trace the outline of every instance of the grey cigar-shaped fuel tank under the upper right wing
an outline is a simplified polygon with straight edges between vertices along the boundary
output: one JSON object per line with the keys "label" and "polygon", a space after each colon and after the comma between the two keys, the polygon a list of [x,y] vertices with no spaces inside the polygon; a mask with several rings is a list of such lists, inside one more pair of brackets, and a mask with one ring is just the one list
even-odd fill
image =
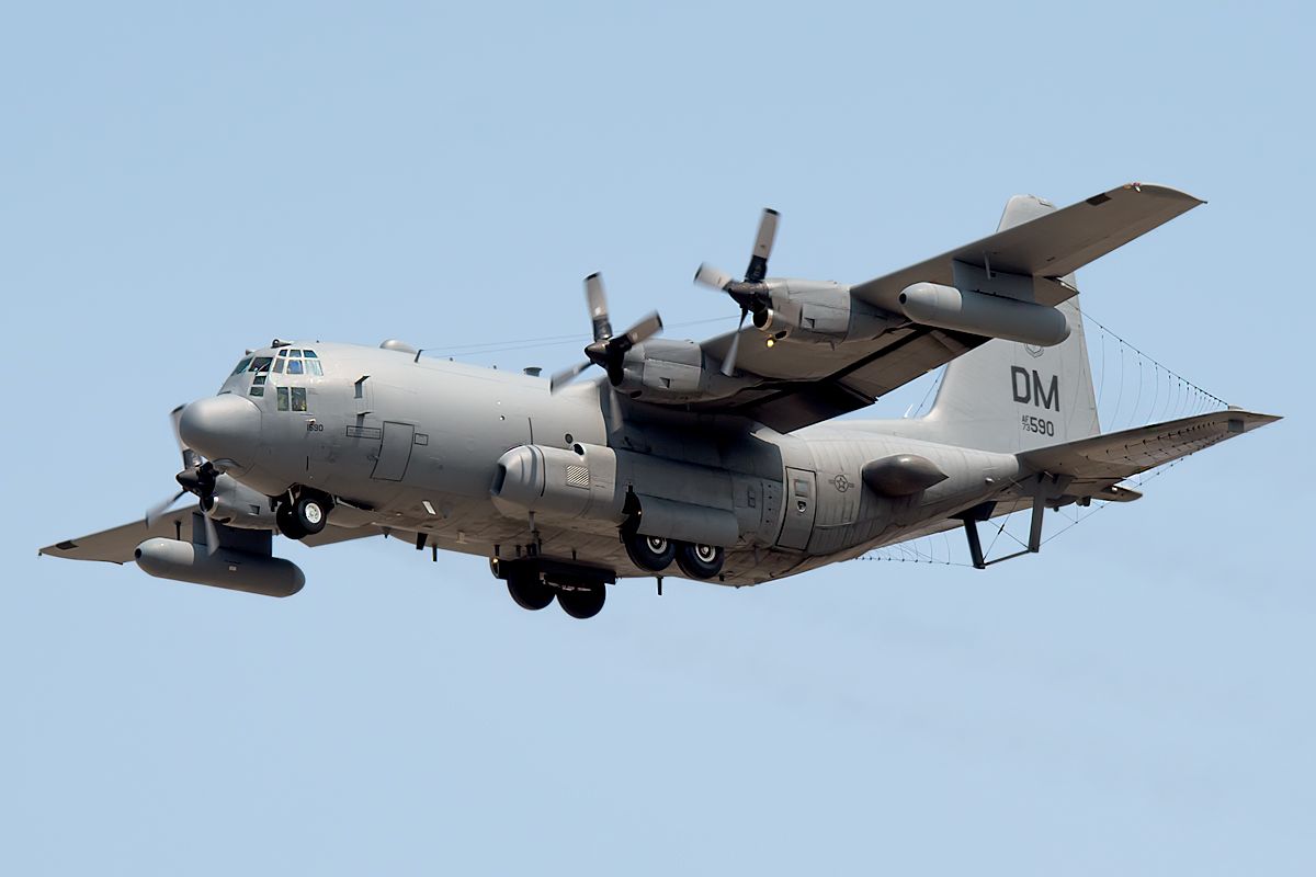
{"label": "grey cigar-shaped fuel tank under the upper right wing", "polygon": [[1054,347],[1069,338],[1069,321],[1055,308],[965,292],[940,283],[916,283],[900,293],[900,309],[925,326]]}

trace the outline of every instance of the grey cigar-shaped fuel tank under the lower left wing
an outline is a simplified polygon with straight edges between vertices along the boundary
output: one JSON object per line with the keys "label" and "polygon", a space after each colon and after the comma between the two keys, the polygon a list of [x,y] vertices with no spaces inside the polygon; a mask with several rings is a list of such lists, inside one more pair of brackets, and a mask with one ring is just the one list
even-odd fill
{"label": "grey cigar-shaped fuel tank under the lower left wing", "polygon": [[137,546],[134,556],[141,571],[157,579],[265,597],[291,597],[307,584],[301,568],[290,560],[222,547],[209,555],[205,546],[179,539],[147,539]]}

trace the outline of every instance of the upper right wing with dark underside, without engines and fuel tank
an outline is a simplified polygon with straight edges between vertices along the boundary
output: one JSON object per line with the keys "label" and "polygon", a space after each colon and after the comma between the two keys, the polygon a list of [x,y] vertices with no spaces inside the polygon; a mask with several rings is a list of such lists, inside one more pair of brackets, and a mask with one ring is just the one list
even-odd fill
{"label": "upper right wing with dark underside, without engines and fuel tank", "polygon": [[[1036,300],[1055,305],[1075,292],[1061,277],[1199,204],[1203,201],[1177,189],[1130,183],[861,283],[850,293],[899,313],[900,291],[920,281],[953,285],[954,264],[959,262],[1034,277]],[[769,348],[755,329],[741,331],[745,337],[737,368],[767,380],[729,398],[695,402],[691,409],[742,414],[783,433],[871,405],[879,396],[988,341],[909,323],[873,341],[826,344],[787,337]],[[701,346],[720,360],[734,335],[728,333]]]}

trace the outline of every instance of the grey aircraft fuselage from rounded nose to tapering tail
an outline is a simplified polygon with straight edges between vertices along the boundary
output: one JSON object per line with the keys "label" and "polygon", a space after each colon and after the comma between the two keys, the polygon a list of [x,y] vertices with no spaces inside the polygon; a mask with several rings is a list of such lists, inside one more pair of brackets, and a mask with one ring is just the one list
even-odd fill
{"label": "grey aircraft fuselage from rounded nose to tapering tail", "polygon": [[[745,418],[621,398],[625,417],[613,425],[604,380],[550,393],[549,381],[532,375],[334,343],[290,343],[249,359],[278,362],[283,351],[287,363],[290,351],[303,350],[313,351],[321,373],[311,373],[309,360],[296,375],[249,366],[220,396],[184,410],[188,443],[257,497],[234,509],[230,526],[268,529],[259,497],[308,490],[333,498],[330,526],[378,526],[418,546],[646,576],[654,573],[634,565],[619,540],[642,505],[642,526],[665,536],[725,534],[716,580],[744,585],[944,526],[1009,493],[1019,475],[1011,454],[898,438],[900,422],[786,435]],[[208,418],[209,406],[217,413]],[[879,475],[866,480],[874,460],[911,455],[940,480],[904,496],[898,486],[874,489],[884,484]],[[554,484],[555,462],[579,464],[578,472]],[[508,483],[516,477],[540,479],[526,483],[537,493]],[[592,490],[592,501],[582,490]]]}

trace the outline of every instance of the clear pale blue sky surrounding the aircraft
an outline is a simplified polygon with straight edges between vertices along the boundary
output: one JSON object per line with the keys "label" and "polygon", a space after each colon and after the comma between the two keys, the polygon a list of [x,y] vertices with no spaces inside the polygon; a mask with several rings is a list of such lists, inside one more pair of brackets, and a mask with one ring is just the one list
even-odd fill
{"label": "clear pale blue sky surrounding the aircraft", "polygon": [[[7,5],[0,872],[1316,872],[1316,21],[1071,5]],[[1084,305],[1287,419],[1038,557],[584,623],[397,542],[280,543],[286,601],[36,557],[275,335],[559,368],[596,270],[725,329],[690,276],[765,205],[774,273],[859,281],[1129,180],[1209,204]]]}

